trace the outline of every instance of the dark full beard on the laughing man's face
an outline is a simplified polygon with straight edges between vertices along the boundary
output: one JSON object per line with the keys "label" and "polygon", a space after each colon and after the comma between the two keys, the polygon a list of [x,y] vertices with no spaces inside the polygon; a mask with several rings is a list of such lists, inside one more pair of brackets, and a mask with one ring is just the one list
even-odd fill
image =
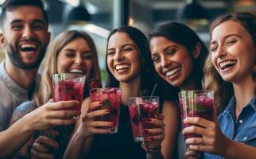
{"label": "dark full beard on the laughing man's face", "polygon": [[25,70],[32,70],[35,68],[39,68],[39,65],[41,64],[41,61],[44,59],[45,57],[45,52],[46,52],[46,45],[42,45],[42,48],[39,50],[39,54],[37,57],[37,60],[32,63],[32,64],[25,64],[22,59],[21,56],[19,54],[19,49],[18,46],[13,46],[10,43],[7,43],[7,54],[10,58],[10,61],[12,64],[14,64],[14,66],[16,66],[17,68],[21,68],[21,69],[25,69]]}

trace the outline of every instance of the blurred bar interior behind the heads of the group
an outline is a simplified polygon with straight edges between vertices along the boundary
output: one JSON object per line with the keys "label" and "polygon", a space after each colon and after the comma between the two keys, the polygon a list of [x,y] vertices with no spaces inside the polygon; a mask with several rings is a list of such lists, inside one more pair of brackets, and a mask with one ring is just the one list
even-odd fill
{"label": "blurred bar interior behind the heads of the group", "polygon": [[[2,4],[4,0],[0,0]],[[99,52],[103,80],[107,36],[120,25],[133,25],[148,34],[157,25],[180,21],[208,45],[208,28],[221,14],[246,11],[256,14],[256,0],[45,0],[52,39],[68,29],[91,35]],[[5,56],[0,49],[0,61]]]}

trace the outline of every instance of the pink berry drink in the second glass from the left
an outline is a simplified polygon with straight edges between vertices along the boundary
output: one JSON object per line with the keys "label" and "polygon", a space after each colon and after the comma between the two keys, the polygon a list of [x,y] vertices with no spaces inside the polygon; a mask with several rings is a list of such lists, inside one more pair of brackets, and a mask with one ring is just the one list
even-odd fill
{"label": "pink berry drink in the second glass from the left", "polygon": [[109,114],[105,114],[96,118],[99,121],[113,122],[113,133],[118,132],[118,122],[121,104],[120,88],[95,88],[90,90],[91,102],[101,101],[102,107],[97,110],[108,109]]}

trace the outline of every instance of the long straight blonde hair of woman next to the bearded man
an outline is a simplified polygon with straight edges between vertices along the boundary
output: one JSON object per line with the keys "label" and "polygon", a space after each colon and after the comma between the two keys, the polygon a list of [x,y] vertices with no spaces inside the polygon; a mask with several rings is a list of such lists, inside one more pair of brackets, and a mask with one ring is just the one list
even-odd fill
{"label": "long straight blonde hair of woman next to the bearded man", "polygon": [[56,74],[57,72],[57,57],[64,48],[64,46],[68,45],[71,41],[83,38],[87,41],[87,44],[91,48],[92,52],[92,61],[93,67],[90,73],[90,78],[94,78],[100,80],[100,71],[99,71],[99,62],[98,62],[98,53],[95,48],[95,43],[92,41],[91,37],[82,31],[69,30],[64,33],[60,33],[52,44],[48,47],[48,50],[45,55],[45,62],[42,65],[42,73],[41,73],[41,83],[39,85],[38,91],[34,96],[35,103],[38,107],[47,103],[49,99],[52,98],[52,74]]}

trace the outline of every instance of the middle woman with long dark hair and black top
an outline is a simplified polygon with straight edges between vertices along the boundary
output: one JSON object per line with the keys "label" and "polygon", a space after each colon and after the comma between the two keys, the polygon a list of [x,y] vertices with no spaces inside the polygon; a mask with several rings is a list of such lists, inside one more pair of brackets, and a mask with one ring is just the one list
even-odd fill
{"label": "middle woman with long dark hair and black top", "polygon": [[[88,113],[87,119],[80,126],[80,132],[76,133],[66,152],[66,157],[80,157],[81,151],[87,154],[88,158],[161,158],[161,142],[165,138],[163,116],[157,115],[149,118],[147,122],[159,128],[147,129],[149,138],[146,138],[143,148],[142,143],[133,141],[133,134],[130,126],[130,116],[127,107],[127,100],[135,96],[150,96],[154,85],[157,83],[156,72],[153,69],[148,42],[145,35],[138,29],[131,26],[122,26],[114,29],[107,40],[107,73],[109,80],[107,87],[120,87],[122,89],[122,103],[119,118],[118,133],[110,134],[111,130],[103,129],[102,126],[109,126],[109,123],[98,122],[96,126],[93,118],[100,114],[106,114],[103,110]],[[160,107],[165,105],[174,107],[171,101],[164,101],[161,95],[161,86],[157,86],[153,93],[160,96]],[[100,103],[91,103],[95,107]],[[89,109],[90,109],[89,107]],[[169,114],[172,115],[172,114]],[[82,129],[83,128],[83,129]],[[88,133],[88,131],[91,132]],[[92,138],[92,144],[87,144]],[[168,134],[166,134],[168,135]],[[80,142],[83,138],[83,142]],[[85,144],[85,145],[84,145]],[[79,145],[79,146],[77,146]],[[81,148],[81,145],[83,148]],[[72,149],[73,147],[73,149]],[[77,147],[80,147],[78,151]],[[85,155],[86,156],[86,155]]]}

